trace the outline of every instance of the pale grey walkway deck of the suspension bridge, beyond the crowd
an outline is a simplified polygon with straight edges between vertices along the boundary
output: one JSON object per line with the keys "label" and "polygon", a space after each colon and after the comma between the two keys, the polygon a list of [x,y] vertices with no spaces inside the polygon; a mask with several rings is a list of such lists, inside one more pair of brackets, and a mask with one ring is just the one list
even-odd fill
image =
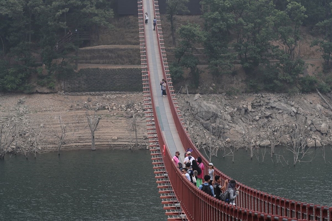
{"label": "pale grey walkway deck of the suspension bridge, beyond the crowd", "polygon": [[[182,145],[179,134],[175,127],[175,122],[172,117],[170,110],[170,105],[166,97],[162,96],[160,81],[163,77],[163,66],[160,60],[159,47],[157,40],[157,31],[153,31],[153,15],[154,7],[152,0],[143,0],[144,11],[147,12],[149,20],[145,24],[145,40],[146,40],[146,50],[148,54],[148,65],[150,68],[150,80],[156,112],[159,121],[161,122],[161,128],[163,135],[166,139],[167,147],[169,148],[172,154],[175,154],[176,151],[181,153],[180,161],[184,160],[185,148]],[[169,96],[169,95],[167,95]]]}

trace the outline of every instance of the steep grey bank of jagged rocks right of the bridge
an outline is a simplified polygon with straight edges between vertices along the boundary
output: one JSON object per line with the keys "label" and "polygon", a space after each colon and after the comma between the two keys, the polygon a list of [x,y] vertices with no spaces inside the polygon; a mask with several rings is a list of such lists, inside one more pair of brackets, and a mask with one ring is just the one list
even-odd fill
{"label": "steep grey bank of jagged rocks right of the bridge", "polygon": [[[328,99],[328,97],[327,97]],[[332,144],[332,111],[317,95],[180,95],[188,131],[198,147]]]}

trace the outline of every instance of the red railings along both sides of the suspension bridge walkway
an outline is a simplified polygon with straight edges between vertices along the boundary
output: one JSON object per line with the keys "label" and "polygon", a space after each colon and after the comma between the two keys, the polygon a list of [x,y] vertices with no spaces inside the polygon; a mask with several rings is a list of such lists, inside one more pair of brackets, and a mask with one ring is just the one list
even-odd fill
{"label": "red railings along both sides of the suspension bridge walkway", "polygon": [[[173,84],[169,74],[168,62],[166,58],[165,44],[159,14],[158,0],[154,0],[154,15],[157,19],[157,40],[159,42],[160,60],[163,66],[163,75],[167,80],[167,96],[169,105],[171,106],[172,116],[175,121],[177,132],[186,148],[193,149],[193,157],[201,157],[204,164],[207,165],[207,159],[196,149],[194,143],[190,140],[184,122],[181,118],[179,106],[177,104]],[[151,84],[151,82],[150,82]],[[149,85],[150,85],[149,84]],[[150,93],[152,93],[152,87]],[[153,105],[153,115],[157,116],[153,96],[151,96]],[[159,145],[166,145],[165,138],[161,132],[158,118],[155,118]],[[167,146],[167,145],[166,145]],[[220,220],[319,220],[332,221],[332,207],[313,205],[305,202],[293,201],[268,193],[258,191],[240,182],[240,195],[236,200],[237,206],[232,206],[208,196],[200,191],[192,183],[184,179],[180,171],[171,161],[171,153],[166,148],[163,156],[166,170],[170,178],[173,190],[177,199],[181,203],[183,211],[187,214],[190,221],[220,221]],[[207,174],[207,167],[204,171]],[[216,175],[221,176],[223,182],[229,177],[215,169]]]}

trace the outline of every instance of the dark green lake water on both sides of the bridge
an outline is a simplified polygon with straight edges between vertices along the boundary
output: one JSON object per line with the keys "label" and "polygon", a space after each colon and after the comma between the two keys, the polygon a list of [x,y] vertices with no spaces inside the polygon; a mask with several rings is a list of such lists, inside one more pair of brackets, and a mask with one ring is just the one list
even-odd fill
{"label": "dark green lake water on both sides of the bridge", "polygon": [[[332,150],[326,163],[318,149],[311,163],[264,163],[238,150],[212,162],[231,178],[255,189],[332,206]],[[261,159],[260,159],[261,160]],[[143,221],[165,220],[146,150],[80,150],[33,156],[6,155],[0,161],[0,221]]]}

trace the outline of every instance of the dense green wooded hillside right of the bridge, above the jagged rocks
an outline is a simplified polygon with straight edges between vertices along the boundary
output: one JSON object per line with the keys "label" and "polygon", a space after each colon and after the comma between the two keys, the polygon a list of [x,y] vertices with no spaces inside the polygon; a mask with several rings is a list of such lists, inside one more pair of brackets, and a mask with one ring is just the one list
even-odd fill
{"label": "dense green wooded hillside right of the bridge, above the jagged rocks", "polygon": [[[204,47],[208,74],[216,79],[236,75],[234,66],[239,63],[249,91],[331,90],[331,0],[202,0],[201,4],[203,25],[187,23],[177,30],[173,80],[183,78],[185,67],[191,83],[199,86],[201,70],[194,54],[197,47]],[[324,60],[322,71],[314,76],[305,74],[307,64],[300,53],[304,27]]]}

